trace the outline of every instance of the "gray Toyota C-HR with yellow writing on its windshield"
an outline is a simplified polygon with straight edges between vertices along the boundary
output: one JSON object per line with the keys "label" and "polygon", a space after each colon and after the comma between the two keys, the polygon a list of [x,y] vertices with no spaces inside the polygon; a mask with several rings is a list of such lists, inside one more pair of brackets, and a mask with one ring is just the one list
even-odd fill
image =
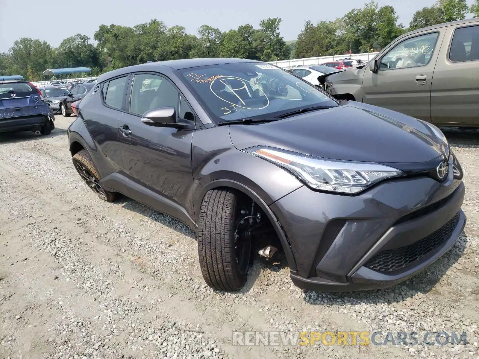
{"label": "gray Toyota C-HR with yellow writing on its windshield", "polygon": [[264,62],[185,59],[101,75],[68,128],[73,164],[196,231],[203,277],[246,281],[258,238],[293,282],[388,287],[441,257],[466,216],[462,169],[431,123],[336,101]]}

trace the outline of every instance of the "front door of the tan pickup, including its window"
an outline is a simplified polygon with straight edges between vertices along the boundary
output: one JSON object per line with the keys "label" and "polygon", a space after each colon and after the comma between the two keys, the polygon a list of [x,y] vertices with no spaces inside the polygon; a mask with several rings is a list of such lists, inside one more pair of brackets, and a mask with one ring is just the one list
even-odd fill
{"label": "front door of the tan pickup, including its window", "polygon": [[377,59],[378,71],[365,69],[363,102],[431,121],[434,66],[442,41],[440,30],[400,41]]}

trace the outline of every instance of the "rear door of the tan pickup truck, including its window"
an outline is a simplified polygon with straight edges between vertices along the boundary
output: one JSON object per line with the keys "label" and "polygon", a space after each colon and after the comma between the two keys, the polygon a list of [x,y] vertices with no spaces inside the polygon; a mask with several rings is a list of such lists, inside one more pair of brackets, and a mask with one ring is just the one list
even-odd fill
{"label": "rear door of the tan pickup truck, including its window", "polygon": [[435,124],[479,124],[479,22],[447,28],[434,69],[431,119]]}

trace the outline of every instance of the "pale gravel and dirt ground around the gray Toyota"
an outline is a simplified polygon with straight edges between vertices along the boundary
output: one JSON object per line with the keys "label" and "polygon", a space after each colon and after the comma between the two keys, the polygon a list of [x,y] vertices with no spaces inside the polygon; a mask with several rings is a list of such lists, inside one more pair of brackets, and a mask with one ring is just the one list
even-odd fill
{"label": "pale gravel and dirt ground around the gray Toyota", "polygon": [[[478,131],[446,132],[468,223],[424,272],[328,294],[293,286],[284,260],[255,260],[233,294],[205,285],[183,224],[97,199],[71,164],[74,117],[56,118],[49,136],[0,134],[0,358],[479,358]],[[236,346],[235,330],[465,331],[467,343]]]}

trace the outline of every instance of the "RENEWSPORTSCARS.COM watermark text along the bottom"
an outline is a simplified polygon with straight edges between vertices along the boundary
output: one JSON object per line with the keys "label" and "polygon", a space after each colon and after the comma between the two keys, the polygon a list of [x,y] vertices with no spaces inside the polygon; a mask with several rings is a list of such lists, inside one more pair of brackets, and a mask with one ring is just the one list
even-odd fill
{"label": "RENEWSPORTSCARS.COM watermark text along the bottom", "polygon": [[386,346],[386,345],[466,345],[466,332],[368,332],[368,331],[302,331],[302,332],[233,332],[234,346]]}

